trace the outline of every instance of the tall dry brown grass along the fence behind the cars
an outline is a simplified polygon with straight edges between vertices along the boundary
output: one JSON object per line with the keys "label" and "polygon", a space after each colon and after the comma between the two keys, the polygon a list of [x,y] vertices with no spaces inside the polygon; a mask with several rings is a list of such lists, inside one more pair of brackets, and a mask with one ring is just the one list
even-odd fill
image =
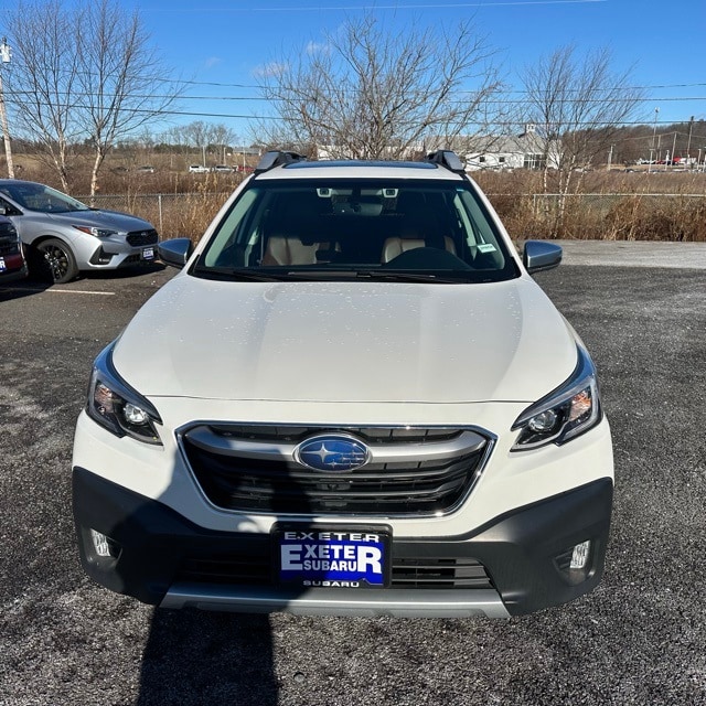
{"label": "tall dry brown grass along the fence behind the cars", "polygon": [[[2,170],[0,160],[0,170]],[[190,174],[193,156],[152,154],[126,160],[114,157],[100,179],[100,194],[120,194],[116,205],[158,225],[162,237],[197,240],[226,197],[242,181],[237,173]],[[213,161],[213,160],[211,160]],[[153,164],[154,173],[137,170]],[[18,156],[19,179],[60,188],[56,178],[36,160]],[[72,179],[74,195],[86,194],[88,162]],[[574,175],[564,202],[544,199],[539,172],[475,172],[473,179],[489,194],[515,239],[574,238],[606,240],[706,242],[706,174],[670,172],[663,167],[641,171],[596,171]],[[549,184],[549,191],[556,184]],[[161,208],[157,194],[162,194]],[[152,196],[150,196],[152,195]]]}

